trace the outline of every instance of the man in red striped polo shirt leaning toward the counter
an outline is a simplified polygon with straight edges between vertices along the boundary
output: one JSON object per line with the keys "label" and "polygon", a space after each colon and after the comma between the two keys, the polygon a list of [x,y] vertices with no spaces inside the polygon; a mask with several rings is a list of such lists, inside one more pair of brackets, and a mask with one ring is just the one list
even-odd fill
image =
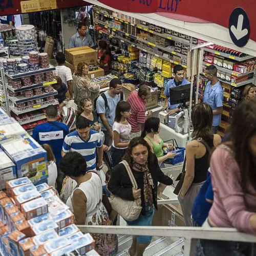
{"label": "man in red striped polo shirt leaning toward the counter", "polygon": [[144,122],[147,118],[152,117],[152,111],[148,111],[147,116],[146,113],[146,101],[151,97],[150,88],[146,86],[146,84],[141,84],[138,92],[133,91],[129,95],[127,102],[131,105],[131,116],[127,119],[127,121],[132,126],[131,139],[135,137],[139,137],[141,135],[141,131],[144,129]]}

